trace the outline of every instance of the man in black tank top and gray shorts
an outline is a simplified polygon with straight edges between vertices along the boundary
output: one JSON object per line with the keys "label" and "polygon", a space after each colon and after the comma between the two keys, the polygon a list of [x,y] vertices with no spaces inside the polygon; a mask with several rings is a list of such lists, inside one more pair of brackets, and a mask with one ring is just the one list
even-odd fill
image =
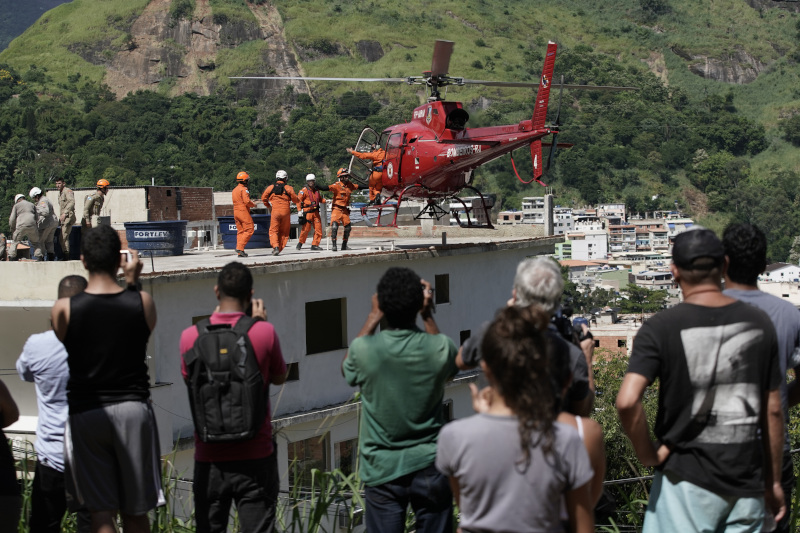
{"label": "man in black tank top and gray shorts", "polygon": [[[51,315],[70,369],[65,471],[72,496],[92,513],[93,531],[114,531],[119,512],[126,533],[149,532],[147,512],[164,500],[145,362],[156,309],[138,290],[142,263],[132,254],[128,261],[120,253],[110,226],[88,232],[81,242],[86,291],[58,300]],[[117,283],[120,266],[127,289]]]}

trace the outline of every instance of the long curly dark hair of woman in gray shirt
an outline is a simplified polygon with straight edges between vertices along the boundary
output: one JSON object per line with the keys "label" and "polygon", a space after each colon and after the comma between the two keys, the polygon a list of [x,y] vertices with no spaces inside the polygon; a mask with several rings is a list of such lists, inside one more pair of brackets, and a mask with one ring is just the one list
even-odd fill
{"label": "long curly dark hair of woman in gray shirt", "polygon": [[[501,309],[483,337],[483,360],[494,377],[492,385],[519,420],[524,468],[531,448],[553,448],[556,398],[548,372],[545,330],[549,316],[536,308]],[[534,439],[533,433],[537,436]]]}

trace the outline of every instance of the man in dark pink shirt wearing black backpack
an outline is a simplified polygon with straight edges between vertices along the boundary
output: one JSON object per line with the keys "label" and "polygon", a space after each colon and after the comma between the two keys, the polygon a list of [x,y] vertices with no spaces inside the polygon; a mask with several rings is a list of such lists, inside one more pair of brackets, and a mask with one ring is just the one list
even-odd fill
{"label": "man in dark pink shirt wearing black backpack", "polygon": [[[232,502],[242,532],[271,532],[279,479],[268,387],[286,381],[286,363],[263,300],[252,298],[253,276],[246,266],[225,265],[214,292],[217,309],[184,330],[180,341],[195,425],[197,533],[227,531]],[[249,317],[245,310],[251,303]],[[223,403],[231,406],[225,413]]]}

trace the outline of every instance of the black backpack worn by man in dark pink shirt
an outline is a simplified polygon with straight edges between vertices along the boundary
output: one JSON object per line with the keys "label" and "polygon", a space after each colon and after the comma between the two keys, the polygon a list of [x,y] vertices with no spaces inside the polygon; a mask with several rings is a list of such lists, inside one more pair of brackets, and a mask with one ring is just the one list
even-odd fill
{"label": "black backpack worn by man in dark pink shirt", "polygon": [[252,439],[264,425],[269,389],[247,336],[255,322],[244,316],[230,327],[201,320],[194,346],[183,355],[192,420],[203,442]]}

